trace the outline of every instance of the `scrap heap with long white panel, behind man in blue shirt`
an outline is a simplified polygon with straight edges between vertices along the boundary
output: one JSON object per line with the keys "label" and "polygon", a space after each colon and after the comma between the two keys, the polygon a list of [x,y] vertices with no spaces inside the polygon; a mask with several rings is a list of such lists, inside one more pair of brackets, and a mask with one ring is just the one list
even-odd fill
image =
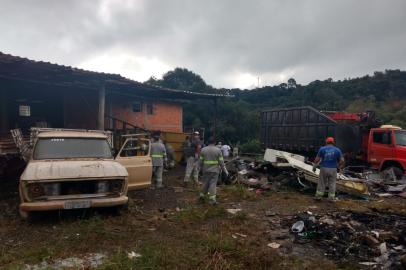
{"label": "scrap heap with long white panel, behind man in blue shirt", "polygon": [[[226,163],[230,172],[228,182],[239,182],[251,188],[269,189],[274,181],[285,181],[292,178],[303,187],[315,185],[318,182],[319,169],[312,171],[312,164],[306,162],[304,156],[289,152],[267,149],[262,161],[252,158],[235,158]],[[225,180],[225,182],[227,182]],[[285,181],[291,183],[291,181]],[[337,190],[366,197],[376,196],[406,197],[406,177],[398,179],[394,172],[388,170],[380,174],[372,171],[354,173],[344,170],[337,174]]]}

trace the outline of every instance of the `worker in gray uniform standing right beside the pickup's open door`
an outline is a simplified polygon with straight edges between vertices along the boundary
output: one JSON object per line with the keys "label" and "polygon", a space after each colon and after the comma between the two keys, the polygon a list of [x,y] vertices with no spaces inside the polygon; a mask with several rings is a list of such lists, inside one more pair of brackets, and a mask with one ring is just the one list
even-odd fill
{"label": "worker in gray uniform standing right beside the pickup's open door", "polygon": [[151,159],[152,159],[152,174],[153,183],[157,188],[163,187],[162,185],[162,173],[164,170],[164,163],[166,163],[166,149],[165,145],[159,139],[160,134],[153,136],[153,142],[151,144]]}

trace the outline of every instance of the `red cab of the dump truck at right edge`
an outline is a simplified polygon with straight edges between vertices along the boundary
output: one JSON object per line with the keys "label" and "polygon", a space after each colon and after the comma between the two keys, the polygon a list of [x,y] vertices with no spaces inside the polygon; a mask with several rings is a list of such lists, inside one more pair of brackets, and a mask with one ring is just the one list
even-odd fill
{"label": "red cab of the dump truck at right edge", "polygon": [[373,169],[393,168],[398,177],[405,173],[406,130],[390,125],[372,128],[367,148],[367,159]]}

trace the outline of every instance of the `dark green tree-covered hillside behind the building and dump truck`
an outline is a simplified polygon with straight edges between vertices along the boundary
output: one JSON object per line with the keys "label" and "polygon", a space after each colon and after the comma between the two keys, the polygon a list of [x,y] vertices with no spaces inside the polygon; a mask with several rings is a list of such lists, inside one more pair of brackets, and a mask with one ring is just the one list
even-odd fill
{"label": "dark green tree-covered hillside behind the building and dump truck", "polygon": [[[278,86],[253,90],[215,89],[197,74],[176,68],[162,80],[151,78],[149,84],[201,93],[227,93],[234,98],[219,100],[217,138],[229,144],[242,143],[247,152],[260,150],[260,112],[265,108],[313,106],[319,110],[362,112],[374,110],[384,123],[406,128],[406,71],[385,70],[373,76],[342,81],[316,80],[297,84],[294,78]],[[184,126],[204,127],[212,135],[214,103],[199,100],[184,105]],[[245,150],[244,150],[245,152]]]}

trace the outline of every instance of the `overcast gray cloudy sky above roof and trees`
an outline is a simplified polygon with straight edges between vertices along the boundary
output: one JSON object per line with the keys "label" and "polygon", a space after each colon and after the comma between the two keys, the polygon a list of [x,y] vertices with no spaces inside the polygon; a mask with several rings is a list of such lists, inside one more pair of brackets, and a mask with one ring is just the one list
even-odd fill
{"label": "overcast gray cloudy sky above roof and trees", "polygon": [[0,51],[215,87],[406,70],[404,0],[0,0]]}

